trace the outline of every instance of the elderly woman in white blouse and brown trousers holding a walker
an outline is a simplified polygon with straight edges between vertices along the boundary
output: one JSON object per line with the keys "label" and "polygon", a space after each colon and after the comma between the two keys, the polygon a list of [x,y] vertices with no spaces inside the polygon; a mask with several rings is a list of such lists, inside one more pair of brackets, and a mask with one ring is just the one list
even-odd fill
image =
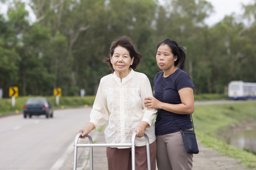
{"label": "elderly woman in white blouse and brown trousers holding a walker", "polygon": [[[133,41],[122,36],[112,42],[110,55],[105,58],[112,74],[100,81],[90,122],[82,131],[81,138],[93,129],[108,122],[105,129],[106,143],[131,143],[137,131],[135,168],[147,169],[146,142],[150,142],[151,168],[156,167],[156,142],[154,117],[156,109],[144,107],[144,98],[152,97],[152,89],[146,75],[134,71],[142,55],[135,50]],[[108,169],[131,169],[131,148],[107,147]]]}

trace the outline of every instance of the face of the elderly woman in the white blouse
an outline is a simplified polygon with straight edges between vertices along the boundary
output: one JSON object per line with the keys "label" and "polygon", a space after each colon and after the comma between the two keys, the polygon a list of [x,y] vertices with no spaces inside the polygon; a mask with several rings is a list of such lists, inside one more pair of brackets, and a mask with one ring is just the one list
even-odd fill
{"label": "face of the elderly woman in the white blouse", "polygon": [[110,61],[115,71],[126,73],[129,71],[129,67],[133,64],[133,58],[131,58],[129,51],[122,46],[117,46],[114,49],[113,56],[110,56]]}

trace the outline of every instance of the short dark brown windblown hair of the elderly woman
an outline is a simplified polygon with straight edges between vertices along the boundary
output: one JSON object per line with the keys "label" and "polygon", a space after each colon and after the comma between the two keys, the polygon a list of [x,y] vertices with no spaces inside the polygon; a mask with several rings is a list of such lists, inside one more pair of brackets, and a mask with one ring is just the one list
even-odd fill
{"label": "short dark brown windblown hair of the elderly woman", "polygon": [[135,70],[139,66],[139,63],[141,62],[142,54],[137,52],[137,49],[135,48],[135,45],[133,44],[133,40],[131,40],[130,37],[127,36],[121,36],[117,40],[113,41],[110,46],[110,52],[109,56],[104,59],[104,62],[108,63],[109,69],[114,73],[114,68],[112,63],[110,62],[110,56],[113,57],[114,50],[117,48],[117,46],[122,46],[123,48],[127,49],[127,51],[130,54],[130,57],[133,58],[133,65],[130,66],[131,69]]}

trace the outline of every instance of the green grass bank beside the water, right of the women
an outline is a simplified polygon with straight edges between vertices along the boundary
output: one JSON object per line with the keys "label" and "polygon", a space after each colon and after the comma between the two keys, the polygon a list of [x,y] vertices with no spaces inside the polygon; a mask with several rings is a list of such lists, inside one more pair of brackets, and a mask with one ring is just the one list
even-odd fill
{"label": "green grass bank beside the water, right of the women", "polygon": [[256,121],[256,101],[233,104],[196,105],[193,121],[197,138],[207,147],[214,148],[222,155],[240,159],[247,168],[256,169],[256,155],[226,144],[217,138],[220,131],[228,133],[226,127],[242,121]]}

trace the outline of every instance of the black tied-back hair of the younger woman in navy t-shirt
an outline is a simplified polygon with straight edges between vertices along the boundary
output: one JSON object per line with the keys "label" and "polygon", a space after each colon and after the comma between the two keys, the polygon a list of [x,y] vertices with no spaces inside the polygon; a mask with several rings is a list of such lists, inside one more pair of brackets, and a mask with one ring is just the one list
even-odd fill
{"label": "black tied-back hair of the younger woman in navy t-shirt", "polygon": [[[177,56],[177,60],[175,61],[174,65],[179,65],[179,68],[183,70],[186,59],[185,49],[182,46],[179,46],[176,41],[170,39],[164,39],[159,42],[158,48],[160,45],[164,44],[168,45],[171,48],[171,52],[172,54],[174,54],[174,56]],[[158,48],[156,50],[158,50]]]}

